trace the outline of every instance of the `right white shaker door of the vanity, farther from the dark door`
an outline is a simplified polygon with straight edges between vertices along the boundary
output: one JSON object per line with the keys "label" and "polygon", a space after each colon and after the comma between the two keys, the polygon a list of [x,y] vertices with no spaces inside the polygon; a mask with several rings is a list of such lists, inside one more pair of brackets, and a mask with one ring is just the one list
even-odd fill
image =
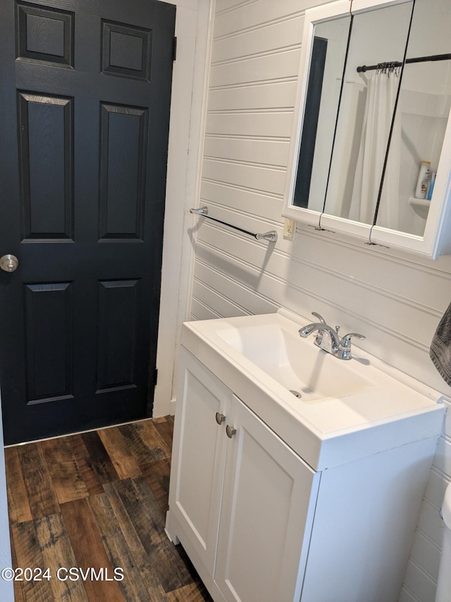
{"label": "right white shaker door of the vanity, farther from the dark door", "polygon": [[240,399],[228,426],[215,581],[226,600],[299,600],[319,474]]}

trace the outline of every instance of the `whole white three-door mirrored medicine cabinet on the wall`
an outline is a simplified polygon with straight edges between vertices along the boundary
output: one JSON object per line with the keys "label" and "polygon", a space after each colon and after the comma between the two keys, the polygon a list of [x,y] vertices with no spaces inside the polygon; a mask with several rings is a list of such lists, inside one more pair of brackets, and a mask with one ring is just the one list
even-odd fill
{"label": "whole white three-door mirrored medicine cabinet on the wall", "polygon": [[285,217],[434,259],[451,253],[450,30],[449,0],[306,11]]}

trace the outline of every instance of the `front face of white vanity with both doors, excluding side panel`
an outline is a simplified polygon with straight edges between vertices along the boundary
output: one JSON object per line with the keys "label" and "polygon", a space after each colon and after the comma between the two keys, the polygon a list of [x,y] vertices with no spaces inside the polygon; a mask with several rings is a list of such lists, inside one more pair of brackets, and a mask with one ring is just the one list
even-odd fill
{"label": "front face of white vanity with both doors, excluding side panel", "polygon": [[299,600],[319,474],[183,348],[180,381],[169,536],[215,600]]}

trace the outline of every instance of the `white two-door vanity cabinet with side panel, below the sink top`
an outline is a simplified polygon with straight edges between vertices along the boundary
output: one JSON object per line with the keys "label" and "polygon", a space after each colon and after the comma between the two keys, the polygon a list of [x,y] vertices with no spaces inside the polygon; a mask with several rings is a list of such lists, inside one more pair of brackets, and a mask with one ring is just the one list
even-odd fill
{"label": "white two-door vanity cabinet with side panel, below the sink top", "polygon": [[397,602],[436,437],[314,470],[230,386],[181,348],[166,532],[214,600]]}

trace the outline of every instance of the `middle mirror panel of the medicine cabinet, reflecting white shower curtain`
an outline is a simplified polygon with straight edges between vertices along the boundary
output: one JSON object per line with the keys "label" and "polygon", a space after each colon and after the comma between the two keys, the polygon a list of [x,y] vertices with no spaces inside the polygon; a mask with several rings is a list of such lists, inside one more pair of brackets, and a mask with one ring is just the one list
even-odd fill
{"label": "middle mirror panel of the medicine cabinet, reflecting white shower curtain", "polygon": [[413,2],[353,15],[324,212],[373,224]]}

